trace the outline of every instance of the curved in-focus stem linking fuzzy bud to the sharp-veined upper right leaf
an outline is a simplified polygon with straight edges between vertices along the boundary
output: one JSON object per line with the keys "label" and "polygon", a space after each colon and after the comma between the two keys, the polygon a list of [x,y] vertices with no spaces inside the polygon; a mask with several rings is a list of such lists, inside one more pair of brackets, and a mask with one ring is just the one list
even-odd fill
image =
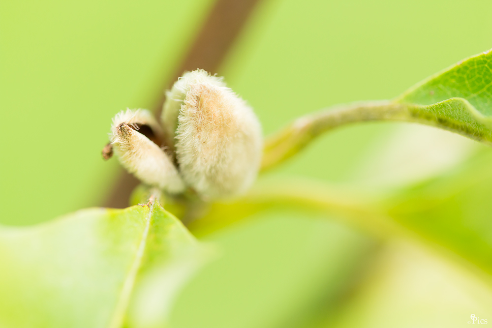
{"label": "curved in-focus stem linking fuzzy bud to the sharp-veined upper right leaf", "polygon": [[362,121],[406,121],[439,127],[492,145],[488,119],[463,98],[418,105],[395,101],[360,102],[309,114],[265,141],[261,170],[268,170],[305,148],[320,134],[338,126]]}

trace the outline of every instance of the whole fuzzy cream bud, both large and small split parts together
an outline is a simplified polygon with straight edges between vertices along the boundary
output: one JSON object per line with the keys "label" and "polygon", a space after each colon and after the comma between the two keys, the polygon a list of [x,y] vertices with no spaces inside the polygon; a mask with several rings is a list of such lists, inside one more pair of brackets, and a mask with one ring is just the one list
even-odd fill
{"label": "whole fuzzy cream bud, both large and small split parts together", "polygon": [[114,149],[130,173],[169,193],[191,188],[212,200],[246,191],[263,150],[252,109],[222,78],[204,70],[186,72],[166,94],[164,130],[149,111],[121,112],[113,119],[104,158]]}

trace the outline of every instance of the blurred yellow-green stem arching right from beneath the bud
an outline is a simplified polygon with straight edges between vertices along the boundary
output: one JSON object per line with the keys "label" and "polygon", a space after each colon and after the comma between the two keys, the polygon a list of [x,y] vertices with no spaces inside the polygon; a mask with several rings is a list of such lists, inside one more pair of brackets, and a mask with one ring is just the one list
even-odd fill
{"label": "blurred yellow-green stem arching right from beneath the bud", "polygon": [[382,199],[384,195],[360,194],[303,179],[283,178],[256,185],[234,202],[210,204],[207,212],[187,227],[193,235],[204,236],[266,209],[298,208],[328,214],[376,239],[406,234],[379,208]]}

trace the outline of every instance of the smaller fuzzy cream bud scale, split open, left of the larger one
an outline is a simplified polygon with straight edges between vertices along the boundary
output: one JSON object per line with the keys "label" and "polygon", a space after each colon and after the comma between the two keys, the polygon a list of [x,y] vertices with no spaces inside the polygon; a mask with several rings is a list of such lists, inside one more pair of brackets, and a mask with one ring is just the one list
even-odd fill
{"label": "smaller fuzzy cream bud scale, split open, left of the larger one", "polygon": [[126,110],[116,115],[111,126],[111,143],[123,167],[138,179],[170,193],[184,191],[184,183],[169,156],[154,142],[136,131],[137,124],[161,133],[152,113]]}

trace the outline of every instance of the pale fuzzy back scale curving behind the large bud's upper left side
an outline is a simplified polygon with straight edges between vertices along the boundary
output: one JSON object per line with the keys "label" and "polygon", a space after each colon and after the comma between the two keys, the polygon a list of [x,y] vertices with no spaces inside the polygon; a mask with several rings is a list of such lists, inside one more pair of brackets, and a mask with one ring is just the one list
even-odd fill
{"label": "pale fuzzy back scale curving behind the large bud's upper left side", "polygon": [[190,89],[190,84],[205,83],[218,87],[225,87],[221,77],[211,76],[203,69],[197,69],[192,72],[185,72],[171,88],[166,91],[166,101],[162,107],[162,126],[164,126],[169,140],[174,141],[176,130],[178,129],[178,115],[180,114],[181,105],[183,104],[186,93]]}

